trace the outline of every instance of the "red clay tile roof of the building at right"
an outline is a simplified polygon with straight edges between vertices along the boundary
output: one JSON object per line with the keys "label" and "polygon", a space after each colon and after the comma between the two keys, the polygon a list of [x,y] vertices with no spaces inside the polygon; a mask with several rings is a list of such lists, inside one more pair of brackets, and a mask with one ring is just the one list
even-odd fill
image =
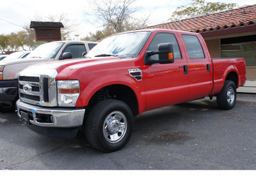
{"label": "red clay tile roof of the building at right", "polygon": [[166,22],[143,29],[173,29],[202,33],[218,29],[237,28],[256,24],[256,4],[234,10],[199,15],[189,19]]}

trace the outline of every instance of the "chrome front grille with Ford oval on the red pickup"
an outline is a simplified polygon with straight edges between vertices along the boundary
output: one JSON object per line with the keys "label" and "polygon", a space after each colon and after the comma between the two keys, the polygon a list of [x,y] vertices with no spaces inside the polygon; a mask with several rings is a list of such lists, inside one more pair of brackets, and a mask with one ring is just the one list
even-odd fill
{"label": "chrome front grille with Ford oval on the red pickup", "polygon": [[29,75],[29,71],[22,72],[19,76],[20,100],[37,106],[57,106],[56,74],[56,70],[34,76]]}

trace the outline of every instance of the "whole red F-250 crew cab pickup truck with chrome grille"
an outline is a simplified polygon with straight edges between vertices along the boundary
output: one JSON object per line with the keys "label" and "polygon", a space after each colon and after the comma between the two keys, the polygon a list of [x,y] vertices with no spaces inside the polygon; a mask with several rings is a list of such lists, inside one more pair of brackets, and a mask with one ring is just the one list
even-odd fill
{"label": "whole red F-250 crew cab pickup truck with chrome grille", "polygon": [[87,57],[22,70],[22,122],[54,138],[83,129],[93,147],[113,152],[129,141],[134,116],[215,95],[220,108],[232,109],[246,81],[243,58],[211,59],[202,36],[185,31],[113,35]]}

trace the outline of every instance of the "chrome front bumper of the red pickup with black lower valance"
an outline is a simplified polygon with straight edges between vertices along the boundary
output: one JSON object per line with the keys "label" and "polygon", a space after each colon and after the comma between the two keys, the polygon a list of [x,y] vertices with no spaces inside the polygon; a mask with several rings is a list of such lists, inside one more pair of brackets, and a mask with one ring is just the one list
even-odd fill
{"label": "chrome front bumper of the red pickup with black lower valance", "polygon": [[18,116],[28,114],[29,129],[52,138],[74,138],[83,125],[85,109],[42,108],[17,100]]}

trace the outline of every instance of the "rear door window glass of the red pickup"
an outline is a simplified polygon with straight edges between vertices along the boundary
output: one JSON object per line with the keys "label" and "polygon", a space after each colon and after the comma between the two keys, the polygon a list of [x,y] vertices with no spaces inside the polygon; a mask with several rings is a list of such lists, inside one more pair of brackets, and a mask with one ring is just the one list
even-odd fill
{"label": "rear door window glass of the red pickup", "polygon": [[183,41],[186,45],[189,59],[205,58],[202,45],[195,35],[182,35]]}

